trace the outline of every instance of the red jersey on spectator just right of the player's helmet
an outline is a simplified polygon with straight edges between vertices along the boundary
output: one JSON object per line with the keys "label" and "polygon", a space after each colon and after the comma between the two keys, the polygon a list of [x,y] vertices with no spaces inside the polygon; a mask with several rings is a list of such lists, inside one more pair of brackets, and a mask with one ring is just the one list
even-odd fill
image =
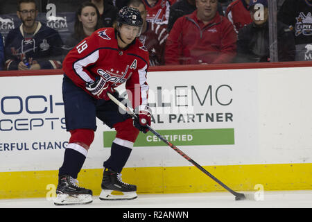
{"label": "red jersey on spectator just right of the player's helmet", "polygon": [[146,8],[146,21],[160,25],[167,25],[169,20],[170,6],[177,0],[157,0],[154,6],[150,6],[147,0],[144,0]]}

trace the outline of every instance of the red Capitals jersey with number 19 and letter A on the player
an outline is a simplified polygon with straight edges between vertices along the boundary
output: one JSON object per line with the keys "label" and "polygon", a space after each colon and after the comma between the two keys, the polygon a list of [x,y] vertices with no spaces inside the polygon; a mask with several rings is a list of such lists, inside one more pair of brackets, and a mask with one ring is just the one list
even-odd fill
{"label": "red Capitals jersey with number 19 and letter A on the player", "polygon": [[85,90],[102,76],[112,87],[125,83],[132,107],[148,103],[148,51],[136,39],[127,49],[120,49],[114,28],[100,28],[77,44],[63,62],[64,74]]}

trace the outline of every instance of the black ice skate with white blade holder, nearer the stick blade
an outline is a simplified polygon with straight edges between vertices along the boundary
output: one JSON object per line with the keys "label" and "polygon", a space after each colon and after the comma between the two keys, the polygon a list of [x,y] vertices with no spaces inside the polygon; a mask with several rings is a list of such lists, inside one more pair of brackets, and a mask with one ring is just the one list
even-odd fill
{"label": "black ice skate with white blade holder, nearer the stick blade", "polygon": [[[137,186],[121,180],[121,173],[105,169],[102,180],[100,200],[132,200],[137,198]],[[123,195],[113,195],[112,191],[121,191]]]}

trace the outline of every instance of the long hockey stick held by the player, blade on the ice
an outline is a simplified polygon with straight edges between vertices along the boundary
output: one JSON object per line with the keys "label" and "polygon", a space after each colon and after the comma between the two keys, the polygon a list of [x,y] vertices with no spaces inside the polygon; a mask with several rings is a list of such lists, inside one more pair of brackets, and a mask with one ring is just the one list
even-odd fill
{"label": "long hockey stick held by the player, blade on the ice", "polygon": [[[110,97],[110,99],[116,103],[116,105],[119,106],[119,108],[123,109],[125,112],[127,112],[128,114],[130,114],[131,117],[137,119],[137,115],[132,112],[132,110],[130,110],[128,107],[126,107],[125,105],[123,105],[123,103],[121,103],[118,99],[116,99],[112,94],[110,94],[109,92],[107,92],[107,95]],[[167,139],[165,139],[164,137],[162,137],[162,135],[160,135],[159,133],[157,133],[155,130],[153,130],[153,128],[151,128],[150,126],[147,125],[148,130],[150,130],[151,133],[153,133],[154,135],[156,135],[159,139],[162,140],[162,142],[164,142],[165,144],[167,144],[168,146],[170,146],[171,148],[173,148],[174,151],[176,151],[177,153],[179,153],[180,155],[182,155],[182,157],[184,157],[184,159],[188,160],[189,162],[191,162],[191,164],[193,164],[195,167],[197,167],[198,169],[200,169],[200,171],[202,171],[203,173],[205,173],[207,176],[209,176],[212,180],[216,181],[220,186],[222,186],[224,189],[226,189],[227,191],[229,191],[231,194],[233,194],[235,196],[235,200],[245,200],[245,199],[250,199],[250,200],[254,200],[254,195],[253,194],[241,194],[238,193],[232,189],[230,189],[229,187],[227,187],[227,185],[225,185],[223,182],[221,182],[220,180],[218,180],[215,176],[213,176],[211,173],[209,173],[207,170],[205,170],[203,167],[200,166],[200,164],[198,164],[197,162],[195,162],[194,160],[191,159],[191,157],[189,157],[187,154],[183,153],[179,148],[177,148],[177,146],[171,144],[171,142],[168,142]]]}

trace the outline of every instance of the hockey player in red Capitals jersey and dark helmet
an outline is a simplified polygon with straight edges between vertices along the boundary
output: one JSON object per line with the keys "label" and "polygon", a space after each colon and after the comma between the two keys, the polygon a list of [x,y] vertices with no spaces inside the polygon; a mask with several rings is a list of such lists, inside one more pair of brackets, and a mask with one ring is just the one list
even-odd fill
{"label": "hockey player in red Capitals jersey and dark helmet", "polygon": [[[151,112],[148,108],[148,51],[137,37],[141,33],[139,10],[123,7],[116,28],[100,28],[72,49],[63,62],[62,85],[67,130],[71,133],[59,169],[55,205],[92,202],[92,191],[78,187],[77,176],[83,167],[96,130],[96,117],[115,128],[111,155],[103,163],[101,200],[136,198],[137,187],[121,180],[121,171],[130,156],[139,130],[148,131]],[[107,92],[125,83],[138,119],[119,112]],[[123,196],[114,196],[112,191]]]}

